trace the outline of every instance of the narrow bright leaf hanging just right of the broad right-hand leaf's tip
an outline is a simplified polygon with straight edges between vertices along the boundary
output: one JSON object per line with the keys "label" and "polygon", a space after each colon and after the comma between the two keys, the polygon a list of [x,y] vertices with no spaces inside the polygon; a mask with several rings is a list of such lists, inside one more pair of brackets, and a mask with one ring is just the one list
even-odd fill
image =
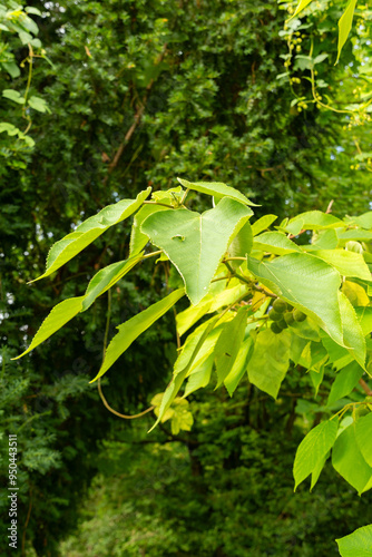
{"label": "narrow bright leaf hanging just right of the broad right-hand leaf's tip", "polygon": [[358,321],[354,307],[341,291],[339,291],[339,305],[344,345],[347,348],[351,355],[355,358],[356,362],[364,369],[366,349],[363,330]]}

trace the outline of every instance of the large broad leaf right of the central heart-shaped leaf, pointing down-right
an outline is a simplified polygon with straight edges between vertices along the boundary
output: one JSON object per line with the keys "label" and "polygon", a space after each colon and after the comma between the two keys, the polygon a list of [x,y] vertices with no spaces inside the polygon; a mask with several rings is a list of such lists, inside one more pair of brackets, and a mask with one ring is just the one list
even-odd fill
{"label": "large broad leaf right of the central heart-shaped leaf, pointing down-right", "polygon": [[311,315],[330,336],[343,344],[339,307],[340,274],[310,254],[291,253],[270,263],[247,257],[248,270],[275,294]]}

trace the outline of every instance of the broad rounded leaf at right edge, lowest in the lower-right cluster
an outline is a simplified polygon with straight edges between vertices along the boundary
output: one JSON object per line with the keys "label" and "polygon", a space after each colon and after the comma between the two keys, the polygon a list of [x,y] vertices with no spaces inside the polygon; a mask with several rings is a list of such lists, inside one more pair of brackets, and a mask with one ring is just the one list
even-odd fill
{"label": "broad rounded leaf at right edge, lowest in the lower-right cluster", "polygon": [[372,468],[359,449],[354,424],[337,437],[332,451],[332,466],[359,495],[372,487]]}

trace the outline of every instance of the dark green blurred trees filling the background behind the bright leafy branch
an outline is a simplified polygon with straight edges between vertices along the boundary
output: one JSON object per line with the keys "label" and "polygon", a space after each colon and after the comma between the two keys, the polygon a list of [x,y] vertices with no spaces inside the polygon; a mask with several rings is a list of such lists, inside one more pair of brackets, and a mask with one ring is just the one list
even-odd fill
{"label": "dark green blurred trees filling the background behind the bright leafy branch", "polygon": [[[9,23],[18,4],[2,6]],[[332,198],[340,216],[369,209],[371,12],[359,9],[334,66],[340,7],[322,0],[319,12],[285,28],[294,7],[36,0],[31,39],[1,28],[0,90],[26,101],[3,96],[0,121],[30,138],[0,134],[2,443],[18,433],[22,555],[325,556],[334,537],[371,521],[370,496],[361,502],[326,476],[313,496],[292,494],[295,447],[316,420],[296,398],[261,400],[248,384],[232,401],[195,394],[196,424],[183,440],[167,429],[146,437],[150,418],[134,426],[108,413],[88,384],[108,323],[105,296],[25,361],[9,361],[52,305],[127,255],[129,226],[119,237],[108,232],[41,289],[28,286],[48,247],[147,185],[168,187],[177,175],[225,182],[262,205],[257,216],[325,209]],[[135,282],[118,283],[110,334],[172,286],[166,263],[149,270],[143,264]],[[169,314],[105,379],[109,403],[125,413],[147,408],[175,353]],[[305,379],[295,381],[298,399],[313,397]],[[7,499],[0,504],[6,531]],[[60,546],[80,514],[77,538]]]}

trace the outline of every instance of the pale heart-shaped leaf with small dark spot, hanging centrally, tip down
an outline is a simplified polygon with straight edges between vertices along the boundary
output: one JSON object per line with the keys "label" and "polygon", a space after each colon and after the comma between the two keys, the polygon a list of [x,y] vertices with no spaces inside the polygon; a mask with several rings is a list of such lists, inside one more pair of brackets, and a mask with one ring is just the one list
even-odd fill
{"label": "pale heart-shaped leaf with small dark spot, hanging centrally, tip down", "polygon": [[251,215],[248,207],[224,197],[202,215],[184,208],[150,215],[141,232],[166,253],[184,278],[190,302],[197,305],[207,294],[228,244]]}

